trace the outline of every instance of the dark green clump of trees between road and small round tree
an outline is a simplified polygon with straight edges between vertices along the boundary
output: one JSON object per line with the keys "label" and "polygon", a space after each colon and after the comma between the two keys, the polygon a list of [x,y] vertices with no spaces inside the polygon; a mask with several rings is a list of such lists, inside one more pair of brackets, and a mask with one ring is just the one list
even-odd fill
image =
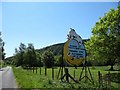
{"label": "dark green clump of trees between road and small round tree", "polygon": [[25,44],[21,43],[19,50],[15,49],[14,59],[16,66],[36,66],[37,58],[33,44],[29,43],[28,47],[26,47]]}

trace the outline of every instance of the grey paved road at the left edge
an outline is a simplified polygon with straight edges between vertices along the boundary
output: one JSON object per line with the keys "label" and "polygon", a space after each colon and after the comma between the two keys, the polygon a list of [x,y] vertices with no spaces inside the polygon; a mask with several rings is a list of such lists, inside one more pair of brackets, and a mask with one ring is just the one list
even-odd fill
{"label": "grey paved road at the left edge", "polygon": [[0,71],[0,90],[5,88],[17,88],[12,68],[7,66]]}

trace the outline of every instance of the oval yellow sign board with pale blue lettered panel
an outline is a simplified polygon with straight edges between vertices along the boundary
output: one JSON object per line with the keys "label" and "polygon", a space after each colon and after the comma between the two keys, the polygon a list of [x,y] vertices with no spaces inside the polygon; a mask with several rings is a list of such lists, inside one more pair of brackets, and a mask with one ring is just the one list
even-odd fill
{"label": "oval yellow sign board with pale blue lettered panel", "polygon": [[64,60],[71,66],[79,66],[85,58],[85,47],[80,36],[74,34],[69,38],[69,35],[64,45]]}

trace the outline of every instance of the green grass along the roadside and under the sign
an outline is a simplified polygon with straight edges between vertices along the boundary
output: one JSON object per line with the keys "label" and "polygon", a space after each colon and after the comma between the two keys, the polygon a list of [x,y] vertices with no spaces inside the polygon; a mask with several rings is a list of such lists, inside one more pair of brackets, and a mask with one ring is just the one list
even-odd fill
{"label": "green grass along the roadside and under the sign", "polygon": [[[15,78],[17,80],[17,84],[20,88],[99,88],[98,87],[98,71],[100,71],[103,75],[107,74],[106,71],[109,67],[90,67],[93,79],[95,84],[91,84],[90,82],[85,83],[84,79],[79,83],[74,83],[70,80],[70,83],[61,82],[60,79],[57,79],[57,74],[59,68],[54,69],[54,80],[52,79],[52,69],[47,69],[47,76],[45,76],[44,68],[42,67],[42,74],[40,75],[40,69],[36,71],[25,70],[22,67],[13,67],[13,71],[15,74]],[[115,67],[116,68],[116,67]],[[75,79],[78,80],[80,77],[80,73],[82,67],[78,67],[77,69],[73,67],[69,67],[69,73],[73,76],[74,70],[76,71]],[[111,73],[117,73],[117,71],[111,71]],[[83,73],[84,76],[84,73]],[[89,76],[89,74],[88,74]],[[118,83],[112,82],[112,88],[118,88]]]}

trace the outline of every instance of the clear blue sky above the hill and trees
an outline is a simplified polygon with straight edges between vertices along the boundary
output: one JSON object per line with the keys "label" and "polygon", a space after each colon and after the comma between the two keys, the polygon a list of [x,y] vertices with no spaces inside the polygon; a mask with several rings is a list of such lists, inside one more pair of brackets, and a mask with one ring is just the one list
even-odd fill
{"label": "clear blue sky above the hill and trees", "polygon": [[2,38],[6,57],[12,56],[21,42],[33,43],[36,49],[63,43],[69,28],[74,28],[83,39],[90,38],[99,17],[117,5],[117,2],[3,2]]}

